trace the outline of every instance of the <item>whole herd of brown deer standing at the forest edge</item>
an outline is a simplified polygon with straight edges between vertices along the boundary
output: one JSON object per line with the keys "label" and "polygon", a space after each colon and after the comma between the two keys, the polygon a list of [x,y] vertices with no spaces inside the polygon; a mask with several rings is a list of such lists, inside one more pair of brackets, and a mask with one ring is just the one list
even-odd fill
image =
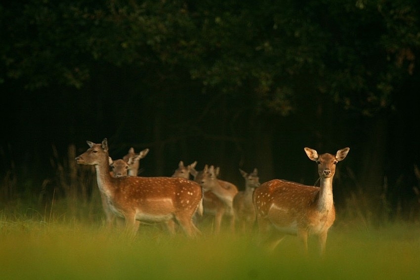
{"label": "whole herd of brown deer standing at the forest edge", "polygon": [[343,160],[349,148],[336,155],[321,154],[304,148],[310,160],[318,164],[320,187],[273,179],[259,183],[256,168],[251,173],[241,169],[245,190],[218,178],[219,168],[213,165],[195,169],[197,161],[185,166],[180,161],[170,177],[138,176],[139,161],[149,149],[135,153],[130,148],[121,160],[112,160],[108,142],[95,144],[76,158],[79,164],[94,165],[97,185],[109,227],[125,223],[131,237],[137,233],[140,221],[162,222],[171,234],[179,225],[190,236],[200,234],[197,219],[204,214],[214,216],[214,232],[218,233],[224,216],[230,219],[231,230],[238,222],[243,233],[252,229],[255,221],[260,237],[274,249],[286,235],[297,235],[307,251],[309,235],[316,235],[320,254],[325,252],[327,234],[335,220],[333,177],[336,163]]}

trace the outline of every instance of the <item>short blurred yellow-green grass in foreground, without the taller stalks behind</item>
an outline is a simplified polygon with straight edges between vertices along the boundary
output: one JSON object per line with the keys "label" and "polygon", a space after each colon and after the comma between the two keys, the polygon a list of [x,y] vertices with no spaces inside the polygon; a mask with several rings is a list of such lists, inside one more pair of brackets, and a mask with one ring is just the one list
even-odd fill
{"label": "short blurred yellow-green grass in foreground, without the taller stalks behind", "polygon": [[339,223],[330,231],[327,254],[309,256],[295,237],[273,253],[256,235],[227,229],[203,236],[170,237],[157,226],[142,226],[135,240],[106,230],[100,220],[8,215],[0,209],[0,279],[418,279],[420,226],[394,223],[381,228]]}

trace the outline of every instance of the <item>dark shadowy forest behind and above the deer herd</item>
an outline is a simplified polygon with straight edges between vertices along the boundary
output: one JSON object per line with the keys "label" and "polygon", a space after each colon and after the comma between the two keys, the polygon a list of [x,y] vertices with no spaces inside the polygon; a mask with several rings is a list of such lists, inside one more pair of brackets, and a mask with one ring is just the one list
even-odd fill
{"label": "dark shadowy forest behind and above the deer herd", "polygon": [[404,0],[0,4],[1,200],[59,188],[69,147],[105,137],[113,159],[150,149],[141,175],[197,160],[240,189],[254,167],[313,185],[303,148],[350,147],[337,207],[417,219],[419,16]]}

